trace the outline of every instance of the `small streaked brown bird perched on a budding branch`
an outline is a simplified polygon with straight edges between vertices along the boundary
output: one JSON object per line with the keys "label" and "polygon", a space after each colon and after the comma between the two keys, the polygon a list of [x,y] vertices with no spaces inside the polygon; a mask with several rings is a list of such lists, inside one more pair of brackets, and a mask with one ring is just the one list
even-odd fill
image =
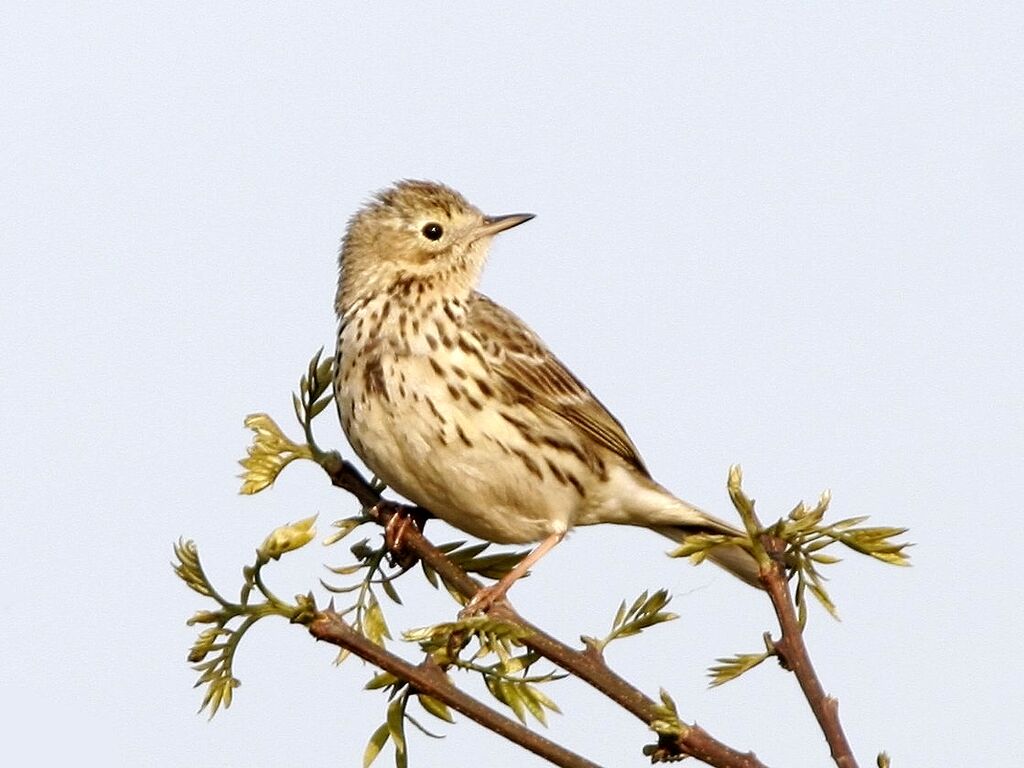
{"label": "small streaked brown bird perched on a budding branch", "polygon": [[[384,482],[474,537],[540,542],[482,610],[575,525],[676,542],[737,531],[658,485],[618,421],[512,312],[476,292],[496,234],[441,184],[401,181],[351,219],[341,249],[335,394],[352,447]],[[759,586],[734,545],[711,559]]]}

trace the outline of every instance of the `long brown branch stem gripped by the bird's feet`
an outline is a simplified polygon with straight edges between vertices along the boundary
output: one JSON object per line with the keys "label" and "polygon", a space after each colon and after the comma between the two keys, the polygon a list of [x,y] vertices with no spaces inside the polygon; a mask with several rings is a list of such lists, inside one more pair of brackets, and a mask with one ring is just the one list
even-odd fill
{"label": "long brown branch stem gripped by the bird's feet", "polygon": [[[331,477],[334,485],[355,496],[380,524],[386,525],[392,515],[403,509],[400,505],[379,505],[381,497],[376,488],[337,453],[328,454],[326,460],[321,462],[321,466]],[[410,526],[406,530],[402,545],[418,555],[466,599],[471,599],[480,589],[481,585],[478,582],[449,560],[444,553],[434,547],[415,526]],[[644,724],[649,725],[664,717],[662,707],[612,672],[596,649],[577,650],[566,645],[524,620],[507,602],[494,606],[490,615],[513,622],[525,629],[528,634],[521,640],[523,645],[590,684]],[[733,750],[695,724],[683,725],[681,732],[675,737],[663,735],[658,740],[657,750],[662,759],[689,755],[716,768],[766,768],[753,753]]]}

